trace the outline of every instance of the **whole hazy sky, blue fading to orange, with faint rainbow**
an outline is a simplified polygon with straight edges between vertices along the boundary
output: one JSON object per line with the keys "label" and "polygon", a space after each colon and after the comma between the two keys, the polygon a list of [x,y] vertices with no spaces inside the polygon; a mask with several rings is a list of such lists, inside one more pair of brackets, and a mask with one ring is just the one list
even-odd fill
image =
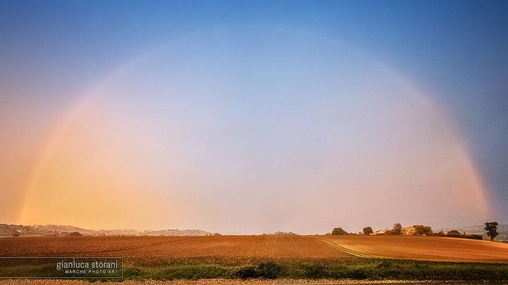
{"label": "whole hazy sky, blue fading to orange, with faint rainbow", "polygon": [[508,4],[0,2],[0,223],[508,224]]}

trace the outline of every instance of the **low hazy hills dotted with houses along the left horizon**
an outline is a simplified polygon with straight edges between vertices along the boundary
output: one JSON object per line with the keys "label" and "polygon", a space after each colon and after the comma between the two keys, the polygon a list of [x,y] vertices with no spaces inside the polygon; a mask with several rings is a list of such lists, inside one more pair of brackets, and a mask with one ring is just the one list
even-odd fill
{"label": "low hazy hills dotted with houses along the left horizon", "polygon": [[123,235],[123,236],[203,236],[211,234],[202,230],[87,230],[73,226],[62,225],[35,225],[35,226],[22,226],[22,225],[7,225],[0,224],[0,237],[2,236],[66,236],[69,233],[78,232],[82,235],[91,236],[109,236],[109,235]]}

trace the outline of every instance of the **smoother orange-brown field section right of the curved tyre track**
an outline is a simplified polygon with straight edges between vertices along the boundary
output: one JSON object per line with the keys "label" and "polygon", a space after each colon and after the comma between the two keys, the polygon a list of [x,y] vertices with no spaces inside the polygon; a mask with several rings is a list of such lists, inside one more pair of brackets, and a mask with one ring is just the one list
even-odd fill
{"label": "smoother orange-brown field section right of the curved tyre track", "polygon": [[354,253],[393,259],[508,263],[508,244],[430,236],[323,236]]}

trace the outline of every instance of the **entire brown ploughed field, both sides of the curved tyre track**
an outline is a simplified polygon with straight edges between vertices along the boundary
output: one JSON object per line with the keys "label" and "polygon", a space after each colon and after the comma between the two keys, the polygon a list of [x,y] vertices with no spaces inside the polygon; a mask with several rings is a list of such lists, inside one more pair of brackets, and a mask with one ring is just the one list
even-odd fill
{"label": "entire brown ploughed field, both sides of the curved tyre track", "polygon": [[0,238],[0,257],[115,256],[128,260],[337,259],[353,256],[508,263],[508,244],[418,236],[140,236]]}

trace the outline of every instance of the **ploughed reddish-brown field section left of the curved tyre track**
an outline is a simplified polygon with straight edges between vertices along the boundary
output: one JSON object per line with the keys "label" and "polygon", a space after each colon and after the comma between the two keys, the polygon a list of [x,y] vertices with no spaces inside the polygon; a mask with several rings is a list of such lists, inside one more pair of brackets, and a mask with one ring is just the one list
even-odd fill
{"label": "ploughed reddish-brown field section left of the curved tyre track", "polygon": [[1,238],[0,256],[116,256],[150,261],[213,257],[242,261],[350,255],[315,237],[264,235]]}

